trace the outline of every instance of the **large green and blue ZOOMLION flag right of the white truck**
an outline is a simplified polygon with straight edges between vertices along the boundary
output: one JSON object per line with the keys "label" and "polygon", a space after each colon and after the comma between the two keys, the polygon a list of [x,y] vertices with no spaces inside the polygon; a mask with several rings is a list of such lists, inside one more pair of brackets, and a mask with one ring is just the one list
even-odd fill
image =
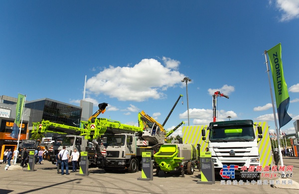
{"label": "large green and blue ZOOMLION flag right of the white truck", "polygon": [[282,128],[289,123],[292,118],[287,111],[290,104],[288,86],[284,78],[283,62],[282,62],[282,45],[279,43],[268,52],[270,65],[272,70],[273,84],[275,89],[276,106],[279,127]]}

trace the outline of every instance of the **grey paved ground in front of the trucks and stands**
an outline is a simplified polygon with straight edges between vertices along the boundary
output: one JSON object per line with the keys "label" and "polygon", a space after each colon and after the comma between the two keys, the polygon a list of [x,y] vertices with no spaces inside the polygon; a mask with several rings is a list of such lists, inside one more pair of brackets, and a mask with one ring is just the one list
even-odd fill
{"label": "grey paved ground in front of the trucks and stands", "polygon": [[[112,172],[106,173],[102,169],[89,168],[88,176],[57,174],[56,166],[49,161],[35,165],[33,171],[23,171],[19,167],[14,170],[4,170],[5,165],[0,164],[0,194],[296,194],[299,193],[299,158],[284,157],[286,166],[294,166],[292,178],[262,178],[261,184],[253,184],[249,180],[235,179],[223,182],[219,177],[215,184],[197,184],[200,181],[200,172],[195,169],[193,175],[171,172],[159,177],[153,172],[152,181],[138,180],[141,171],[137,173]],[[19,164],[17,164],[19,165]],[[280,166],[280,164],[279,164]],[[19,169],[19,170],[17,170]],[[24,168],[25,170],[27,168]],[[153,170],[155,171],[155,169]],[[77,172],[78,173],[78,172]],[[280,176],[280,174],[278,175]],[[222,180],[222,181],[221,181]],[[275,184],[278,188],[271,187],[270,180],[280,181]],[[243,185],[240,182],[243,181]],[[282,182],[286,181],[286,184]],[[268,184],[265,184],[268,182]],[[291,184],[292,183],[292,184]]]}

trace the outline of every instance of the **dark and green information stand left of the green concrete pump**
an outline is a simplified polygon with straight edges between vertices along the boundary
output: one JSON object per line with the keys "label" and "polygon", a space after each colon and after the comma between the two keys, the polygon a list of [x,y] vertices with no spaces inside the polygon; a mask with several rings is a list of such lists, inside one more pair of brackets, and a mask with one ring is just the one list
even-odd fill
{"label": "dark and green information stand left of the green concrete pump", "polygon": [[151,153],[150,152],[142,152],[142,172],[141,178],[137,178],[137,180],[142,181],[152,181],[152,163]]}

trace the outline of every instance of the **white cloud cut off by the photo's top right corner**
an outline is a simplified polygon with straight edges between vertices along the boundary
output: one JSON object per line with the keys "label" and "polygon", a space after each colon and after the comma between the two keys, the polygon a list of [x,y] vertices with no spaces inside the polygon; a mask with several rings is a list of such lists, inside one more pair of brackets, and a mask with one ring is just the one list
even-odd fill
{"label": "white cloud cut off by the photo's top right corner", "polygon": [[298,0],[269,0],[269,3],[273,4],[273,1],[276,8],[282,12],[280,21],[290,21],[299,18]]}

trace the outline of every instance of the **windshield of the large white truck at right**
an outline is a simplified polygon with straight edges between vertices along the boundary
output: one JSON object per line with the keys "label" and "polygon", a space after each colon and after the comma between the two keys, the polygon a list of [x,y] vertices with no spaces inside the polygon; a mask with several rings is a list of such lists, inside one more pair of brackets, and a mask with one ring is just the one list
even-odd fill
{"label": "windshield of the large white truck at right", "polygon": [[211,142],[253,141],[255,132],[252,126],[214,127],[210,129]]}

